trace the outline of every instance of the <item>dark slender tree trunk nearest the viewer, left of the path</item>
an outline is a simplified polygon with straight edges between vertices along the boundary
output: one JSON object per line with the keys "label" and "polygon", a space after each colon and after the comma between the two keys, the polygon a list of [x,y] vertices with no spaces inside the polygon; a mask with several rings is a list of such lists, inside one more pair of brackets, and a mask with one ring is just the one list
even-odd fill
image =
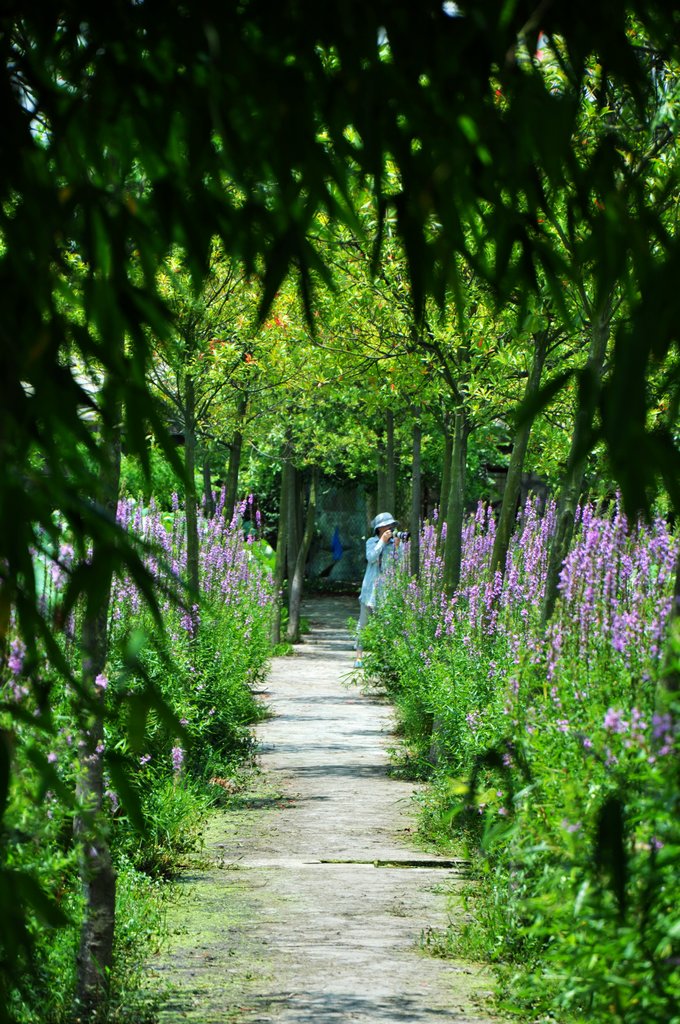
{"label": "dark slender tree trunk nearest the viewer, left of the path", "polygon": [[[120,417],[116,417],[117,422]],[[116,517],[121,475],[121,431],[116,427],[105,443],[105,471],[97,496],[112,518]],[[95,541],[92,558],[96,564],[104,542]],[[104,552],[105,554],[105,552]],[[110,561],[104,557],[103,566]],[[76,819],[74,833],[80,845],[80,871],[84,913],[77,957],[75,1016],[93,1021],[105,1000],[113,964],[116,924],[116,871],[109,846],[103,776],[103,718],[105,688],[96,680],[103,674],[109,653],[109,606],[113,573],[99,568],[96,593],[87,597],[83,622],[83,685],[95,709],[92,723],[79,744],[81,773],[79,804],[84,811]]]}

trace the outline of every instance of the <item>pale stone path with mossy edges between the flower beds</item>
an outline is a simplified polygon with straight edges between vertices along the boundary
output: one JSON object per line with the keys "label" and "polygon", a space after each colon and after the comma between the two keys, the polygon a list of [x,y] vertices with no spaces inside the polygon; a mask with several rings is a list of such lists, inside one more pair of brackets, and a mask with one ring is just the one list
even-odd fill
{"label": "pale stone path with mossy edges between the flower beds", "polygon": [[[306,642],[274,658],[258,726],[269,796],[211,827],[183,880],[165,1024],[490,1024],[481,969],[436,959],[461,864],[410,842],[413,785],[389,778],[390,709],[348,686],[349,599],[318,599]],[[487,1005],[487,1004],[486,1004]]]}

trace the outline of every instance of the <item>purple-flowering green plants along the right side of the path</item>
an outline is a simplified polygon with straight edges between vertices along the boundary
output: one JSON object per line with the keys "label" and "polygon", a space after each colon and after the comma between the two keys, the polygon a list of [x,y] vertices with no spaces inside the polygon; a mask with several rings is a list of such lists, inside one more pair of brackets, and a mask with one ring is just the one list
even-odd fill
{"label": "purple-flowering green plants along the right side of the path", "polygon": [[367,631],[411,769],[436,782],[425,827],[464,836],[478,871],[477,924],[451,941],[491,957],[532,1019],[671,1024],[680,731],[655,684],[677,536],[585,505],[546,632],[554,508],[523,510],[504,580],[494,527],[480,506],[451,601],[426,528],[421,580],[393,575]]}

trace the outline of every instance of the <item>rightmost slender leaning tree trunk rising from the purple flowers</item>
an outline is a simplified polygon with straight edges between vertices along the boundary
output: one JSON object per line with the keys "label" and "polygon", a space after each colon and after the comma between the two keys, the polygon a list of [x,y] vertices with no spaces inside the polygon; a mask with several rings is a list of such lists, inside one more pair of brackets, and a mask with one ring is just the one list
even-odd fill
{"label": "rightmost slender leaning tree trunk rising from the purple flowers", "polygon": [[611,323],[611,297],[593,314],[588,361],[584,368],[579,394],[579,406],[573,422],[573,434],[566,464],[566,471],[559,497],[555,535],[550,547],[543,621],[548,623],[555,610],[558,596],[559,574],[569,552],[573,535],[573,517],[583,487],[586,461],[592,449],[593,419],[597,409],[600,380],[604,367]]}

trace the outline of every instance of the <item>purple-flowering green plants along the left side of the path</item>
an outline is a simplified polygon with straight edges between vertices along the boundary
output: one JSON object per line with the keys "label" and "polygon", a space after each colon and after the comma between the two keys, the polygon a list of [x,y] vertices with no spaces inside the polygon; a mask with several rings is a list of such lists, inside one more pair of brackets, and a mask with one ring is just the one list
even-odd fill
{"label": "purple-flowering green plants along the left side of the path", "polygon": [[[159,582],[181,569],[185,527],[180,512],[161,514],[154,505],[142,509],[126,502],[119,518],[147,544],[147,565]],[[152,880],[171,877],[182,857],[198,848],[209,807],[250,755],[248,726],[263,714],[252,687],[268,656],[271,593],[266,572],[252,545],[238,528],[229,528],[223,510],[215,520],[203,521],[202,539],[198,634],[187,611],[170,600],[163,608],[164,630],[159,631],[132,581],[121,578],[112,606],[110,659],[96,684],[107,703],[101,754],[108,839],[118,873],[116,945],[105,1010],[116,1021],[139,1021],[151,998],[142,985],[142,965],[162,938],[163,901],[168,898]],[[65,542],[56,563],[37,566],[47,606],[58,601],[72,557],[73,548]],[[80,658],[79,631],[79,615],[74,613],[61,640],[74,673]],[[6,865],[19,893],[26,885],[19,879],[27,879],[29,885],[39,885],[43,895],[29,913],[27,945],[15,950],[23,952],[18,984],[11,994],[5,989],[4,997],[12,1019],[30,1022],[39,1014],[42,1024],[57,1024],[72,1019],[83,912],[74,835],[76,815],[83,813],[77,799],[83,772],[77,696],[45,660],[43,681],[50,705],[49,712],[41,710],[26,685],[26,646],[14,631],[10,648],[2,724],[9,720],[9,711],[19,724],[17,781],[5,818]],[[158,697],[154,710],[136,702],[148,690]],[[129,720],[117,713],[122,703],[129,709]],[[31,896],[35,899],[27,889],[27,903]],[[7,922],[3,925],[6,928]]]}

